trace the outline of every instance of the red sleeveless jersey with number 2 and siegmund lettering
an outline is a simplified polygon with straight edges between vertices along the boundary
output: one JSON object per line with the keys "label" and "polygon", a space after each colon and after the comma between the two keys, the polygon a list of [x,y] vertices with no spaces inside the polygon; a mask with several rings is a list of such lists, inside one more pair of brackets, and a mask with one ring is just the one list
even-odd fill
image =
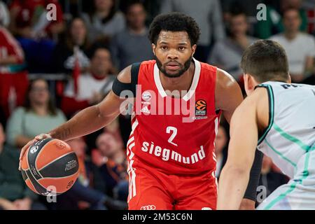
{"label": "red sleeveless jersey with number 2 and siegmund lettering", "polygon": [[220,118],[215,106],[216,67],[194,62],[193,82],[182,98],[167,95],[155,60],[141,63],[127,143],[129,171],[137,167],[179,175],[215,171],[214,139]]}

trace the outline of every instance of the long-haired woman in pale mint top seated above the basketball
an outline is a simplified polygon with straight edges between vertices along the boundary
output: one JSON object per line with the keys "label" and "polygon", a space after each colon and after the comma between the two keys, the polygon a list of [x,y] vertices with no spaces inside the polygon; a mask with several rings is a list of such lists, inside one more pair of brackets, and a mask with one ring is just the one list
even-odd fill
{"label": "long-haired woman in pale mint top seated above the basketball", "polygon": [[15,109],[7,125],[8,144],[22,148],[41,133],[47,133],[66,121],[64,114],[55,108],[48,83],[43,79],[31,81],[25,106]]}

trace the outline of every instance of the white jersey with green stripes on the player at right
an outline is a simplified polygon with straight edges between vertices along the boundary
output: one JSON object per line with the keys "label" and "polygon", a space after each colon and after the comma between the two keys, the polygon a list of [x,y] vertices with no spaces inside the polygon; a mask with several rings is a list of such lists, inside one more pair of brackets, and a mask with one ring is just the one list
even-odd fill
{"label": "white jersey with green stripes on the player at right", "polygon": [[[290,177],[259,208],[315,209],[315,86],[267,82],[258,87],[269,97],[269,125],[258,150]],[[309,195],[307,200],[301,193]]]}

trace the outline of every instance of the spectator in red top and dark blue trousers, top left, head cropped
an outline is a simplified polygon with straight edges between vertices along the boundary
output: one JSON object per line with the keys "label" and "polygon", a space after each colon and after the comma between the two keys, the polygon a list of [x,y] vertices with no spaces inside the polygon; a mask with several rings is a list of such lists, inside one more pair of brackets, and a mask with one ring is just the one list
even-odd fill
{"label": "spectator in red top and dark blue trousers, top left, head cropped", "polygon": [[[48,20],[46,7],[56,6],[56,20]],[[52,52],[64,30],[62,8],[57,0],[14,0],[10,4],[10,30],[18,37],[30,73],[50,73]]]}

